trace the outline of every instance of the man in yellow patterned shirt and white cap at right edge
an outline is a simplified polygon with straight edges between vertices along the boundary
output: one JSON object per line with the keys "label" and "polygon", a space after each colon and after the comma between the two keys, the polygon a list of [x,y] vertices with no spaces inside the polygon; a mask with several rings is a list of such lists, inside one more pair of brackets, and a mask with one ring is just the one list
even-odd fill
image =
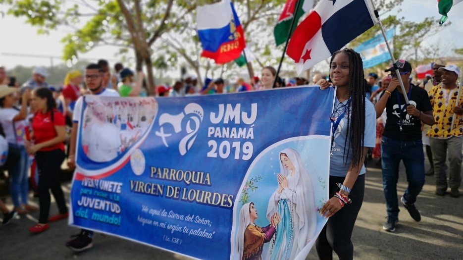
{"label": "man in yellow patterned shirt and white cap at right edge", "polygon": [[[463,145],[463,95],[459,97],[457,85],[460,68],[456,65],[440,67],[442,83],[429,91],[429,99],[434,108],[436,123],[431,126],[427,136],[431,145],[436,178],[436,195],[445,196],[450,187],[450,196],[460,197],[462,182],[462,145]],[[454,118],[455,117],[455,118]],[[453,123],[453,124],[452,124]],[[447,185],[446,157],[449,155],[449,182]]]}

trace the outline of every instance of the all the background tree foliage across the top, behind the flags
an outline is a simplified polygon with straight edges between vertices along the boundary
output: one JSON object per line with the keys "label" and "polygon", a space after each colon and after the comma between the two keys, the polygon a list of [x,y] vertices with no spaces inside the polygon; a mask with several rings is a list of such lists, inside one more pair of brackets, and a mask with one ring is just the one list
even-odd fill
{"label": "all the background tree foliage across the top, behind the flags", "polygon": [[[243,71],[234,63],[224,66],[202,58],[196,32],[196,7],[220,0],[0,0],[9,6],[8,14],[25,17],[42,34],[58,26],[73,31],[62,39],[63,58],[72,65],[80,53],[99,46],[116,46],[122,56],[134,52],[137,68],[148,64],[148,83],[154,86],[153,67],[165,71],[172,67],[189,67],[201,79],[223,73]],[[273,27],[286,0],[234,0],[247,46],[257,56],[253,65],[276,66],[283,46],[275,47]],[[438,30],[430,17],[410,22],[396,15],[404,0],[373,0],[385,30],[396,28],[394,56],[413,57],[427,51],[421,42]],[[394,13],[392,11],[394,10]],[[448,26],[450,23],[447,23]],[[355,47],[379,32],[379,26],[360,35],[349,44]],[[457,52],[458,53],[458,52]],[[286,58],[286,64],[292,60]],[[292,66],[286,66],[292,68]],[[203,73],[204,75],[204,73]],[[152,88],[150,88],[152,90]]]}

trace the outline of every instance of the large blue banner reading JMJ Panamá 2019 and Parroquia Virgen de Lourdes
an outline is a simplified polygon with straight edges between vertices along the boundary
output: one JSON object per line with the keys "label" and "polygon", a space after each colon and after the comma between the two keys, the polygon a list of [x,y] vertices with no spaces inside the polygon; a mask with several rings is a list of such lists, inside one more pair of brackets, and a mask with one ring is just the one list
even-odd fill
{"label": "large blue banner reading JMJ Panam\u00e1 2019 and Parroquia Virgen de Lourdes", "polygon": [[334,88],[84,98],[69,224],[196,259],[304,259]]}

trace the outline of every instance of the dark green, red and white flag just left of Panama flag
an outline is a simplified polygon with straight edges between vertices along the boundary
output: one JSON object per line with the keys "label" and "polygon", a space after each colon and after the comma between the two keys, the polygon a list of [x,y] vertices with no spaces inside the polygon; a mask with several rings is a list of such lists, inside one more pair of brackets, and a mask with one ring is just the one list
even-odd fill
{"label": "dark green, red and white flag just left of Panama flag", "polygon": [[[293,31],[291,32],[291,35],[296,29],[298,25],[298,21],[301,18],[301,16],[303,16],[307,11],[309,11],[313,7],[313,0],[300,0],[300,1],[302,2],[299,4],[299,10],[296,14],[296,22],[293,26]],[[297,2],[298,0],[288,0],[285,4],[285,7],[283,8],[283,11],[280,14],[278,23],[275,25],[275,28],[273,29],[273,35],[275,36],[276,46],[279,46],[282,43],[285,43],[286,40],[288,39],[288,33],[289,33],[289,29],[291,28],[291,22],[294,17],[294,11],[296,9]]]}

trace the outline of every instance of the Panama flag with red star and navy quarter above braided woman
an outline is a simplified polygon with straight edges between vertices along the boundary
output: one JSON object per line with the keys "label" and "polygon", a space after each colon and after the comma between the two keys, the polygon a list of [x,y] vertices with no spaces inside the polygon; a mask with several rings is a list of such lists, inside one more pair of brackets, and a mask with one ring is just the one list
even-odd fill
{"label": "Panama flag with red star and navy quarter above braided woman", "polygon": [[375,23],[370,0],[320,0],[294,31],[287,54],[301,74]]}

